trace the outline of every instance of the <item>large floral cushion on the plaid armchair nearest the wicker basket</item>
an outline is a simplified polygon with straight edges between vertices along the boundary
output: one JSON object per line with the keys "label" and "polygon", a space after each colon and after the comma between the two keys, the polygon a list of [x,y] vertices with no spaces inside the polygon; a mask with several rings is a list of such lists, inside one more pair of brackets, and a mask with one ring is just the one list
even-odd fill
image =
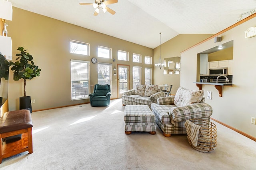
{"label": "large floral cushion on the plaid armchair nearest the wicker basket", "polygon": [[174,104],[176,106],[186,106],[188,104],[199,103],[203,96],[203,90],[188,90],[180,86],[175,94]]}

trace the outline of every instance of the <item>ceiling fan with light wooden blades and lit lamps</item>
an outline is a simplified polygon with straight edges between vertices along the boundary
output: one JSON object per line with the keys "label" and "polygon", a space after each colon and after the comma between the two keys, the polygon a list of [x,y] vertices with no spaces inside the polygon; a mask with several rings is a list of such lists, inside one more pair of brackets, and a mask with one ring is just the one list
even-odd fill
{"label": "ceiling fan with light wooden blades and lit lamps", "polygon": [[103,12],[105,13],[108,11],[110,14],[114,15],[116,12],[110,8],[108,8],[106,5],[117,3],[118,0],[95,0],[95,3],[79,3],[80,5],[92,5],[95,9],[94,16],[97,16],[100,8],[102,8]]}

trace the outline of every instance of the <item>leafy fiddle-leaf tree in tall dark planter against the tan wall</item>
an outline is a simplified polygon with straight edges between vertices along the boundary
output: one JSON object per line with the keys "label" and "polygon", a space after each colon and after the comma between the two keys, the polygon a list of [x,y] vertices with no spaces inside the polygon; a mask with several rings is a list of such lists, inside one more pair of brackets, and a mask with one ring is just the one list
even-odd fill
{"label": "leafy fiddle-leaf tree in tall dark planter against the tan wall", "polygon": [[32,55],[26,52],[23,47],[19,47],[17,50],[20,51],[16,54],[18,56],[16,60],[19,61],[15,63],[10,61],[11,70],[14,71],[13,80],[18,81],[21,78],[24,80],[24,96],[20,97],[20,109],[28,109],[32,113],[31,98],[26,95],[26,80],[40,76],[41,69],[34,65]]}

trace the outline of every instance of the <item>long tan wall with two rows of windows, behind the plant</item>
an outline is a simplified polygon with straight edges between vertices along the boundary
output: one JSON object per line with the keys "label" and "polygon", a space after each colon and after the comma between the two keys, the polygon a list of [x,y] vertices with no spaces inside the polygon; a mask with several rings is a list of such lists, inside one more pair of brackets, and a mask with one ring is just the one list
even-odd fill
{"label": "long tan wall with two rows of windows, behind the plant", "polygon": [[[40,77],[27,81],[26,93],[35,99],[32,103],[33,110],[67,106],[89,102],[88,99],[71,101],[70,59],[90,61],[97,56],[97,46],[112,48],[112,59],[98,58],[98,62],[130,65],[130,77],[132,78],[132,66],[142,66],[142,84],[144,84],[144,68],[152,68],[152,64],[132,62],[132,54],[141,54],[142,61],[145,56],[153,56],[153,49],[127,42],[106,34],[94,32],[86,28],[68,24],[59,20],[38,15],[19,8],[13,8],[13,20],[8,22],[8,36],[12,37],[12,59],[18,47],[23,46],[34,57],[35,65],[42,69]],[[100,26],[100,25],[99,25]],[[90,56],[70,54],[70,40],[77,40],[90,44]],[[129,62],[118,61],[117,51],[129,52]],[[113,62],[113,59],[116,62]],[[90,64],[91,91],[98,82],[97,64]],[[116,76],[112,71],[112,96],[117,98]],[[9,109],[19,109],[19,97],[23,94],[23,81],[14,81],[10,74],[9,81]],[[132,87],[132,81],[130,81]]]}

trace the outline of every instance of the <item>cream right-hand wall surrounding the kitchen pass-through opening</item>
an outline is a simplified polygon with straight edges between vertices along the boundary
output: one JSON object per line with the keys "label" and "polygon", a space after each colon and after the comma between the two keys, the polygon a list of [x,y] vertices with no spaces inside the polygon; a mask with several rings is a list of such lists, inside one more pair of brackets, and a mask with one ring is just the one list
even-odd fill
{"label": "cream right-hand wall surrounding the kitchen pass-through opening", "polygon": [[[255,14],[254,14],[255,15]],[[204,96],[206,91],[212,91],[212,100],[206,99],[206,103],[213,108],[212,118],[232,126],[246,134],[256,137],[256,125],[251,124],[251,117],[256,117],[256,36],[244,38],[244,31],[250,27],[256,27],[256,17],[228,30],[218,36],[222,41],[214,43],[214,38],[181,54],[181,81],[180,85],[193,90],[198,90],[195,82],[199,72],[197,71],[198,53],[234,40],[233,46],[233,86],[223,87],[223,97],[219,97],[218,90],[212,85],[202,85]],[[198,80],[199,81],[199,80]],[[218,129],[218,127],[217,127]]]}

